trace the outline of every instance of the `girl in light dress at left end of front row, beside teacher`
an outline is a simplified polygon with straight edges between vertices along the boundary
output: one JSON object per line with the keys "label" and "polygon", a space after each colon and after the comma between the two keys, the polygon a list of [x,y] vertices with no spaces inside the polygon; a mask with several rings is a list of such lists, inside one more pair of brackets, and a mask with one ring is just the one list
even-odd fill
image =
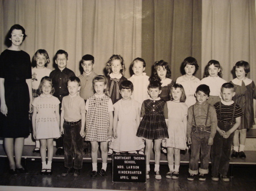
{"label": "girl in light dress at left end of front row, beside teacher", "polygon": [[[53,138],[60,137],[60,101],[52,96],[54,88],[52,79],[42,78],[38,91],[40,96],[32,102],[32,127],[35,139],[40,140],[40,154],[42,158],[41,175],[51,175],[53,158]],[[48,148],[48,162],[46,164],[46,148]]]}

